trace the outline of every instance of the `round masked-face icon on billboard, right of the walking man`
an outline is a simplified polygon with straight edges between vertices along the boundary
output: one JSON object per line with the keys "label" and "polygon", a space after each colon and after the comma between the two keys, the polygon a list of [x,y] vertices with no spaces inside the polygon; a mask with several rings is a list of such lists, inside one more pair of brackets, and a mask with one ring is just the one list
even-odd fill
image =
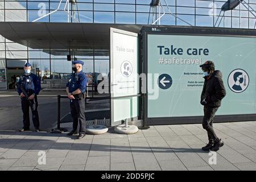
{"label": "round masked-face icon on billboard, right of the walking man", "polygon": [[249,85],[249,76],[243,69],[235,69],[229,74],[228,85],[233,92],[241,93]]}

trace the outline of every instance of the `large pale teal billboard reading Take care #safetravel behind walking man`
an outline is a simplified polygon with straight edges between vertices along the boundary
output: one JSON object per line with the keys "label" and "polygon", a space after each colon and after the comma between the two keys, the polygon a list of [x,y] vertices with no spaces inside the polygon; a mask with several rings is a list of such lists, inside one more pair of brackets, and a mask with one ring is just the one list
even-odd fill
{"label": "large pale teal billboard reading Take care #safetravel behind walking man", "polygon": [[[256,36],[144,32],[147,73],[147,119],[196,119],[203,115],[204,85],[199,67],[212,60],[222,72],[226,97],[217,115],[230,118],[256,113]],[[196,32],[196,31],[193,31]],[[152,89],[154,88],[154,89]],[[154,90],[154,92],[151,92]],[[183,122],[186,122],[183,119]],[[240,118],[241,119],[241,118]],[[188,121],[187,120],[187,121]],[[223,120],[222,120],[223,121]],[[200,122],[200,120],[198,120]]]}

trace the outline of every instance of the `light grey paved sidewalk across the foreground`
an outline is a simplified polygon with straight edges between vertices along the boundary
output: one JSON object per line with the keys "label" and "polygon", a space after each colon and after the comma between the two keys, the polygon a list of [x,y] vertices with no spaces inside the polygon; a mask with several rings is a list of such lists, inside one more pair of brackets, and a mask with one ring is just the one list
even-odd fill
{"label": "light grey paved sidewalk across the foreground", "polygon": [[[256,170],[256,122],[215,123],[225,146],[210,165],[201,125],[151,126],[137,134],[0,131],[0,170]],[[46,165],[38,152],[46,152]]]}

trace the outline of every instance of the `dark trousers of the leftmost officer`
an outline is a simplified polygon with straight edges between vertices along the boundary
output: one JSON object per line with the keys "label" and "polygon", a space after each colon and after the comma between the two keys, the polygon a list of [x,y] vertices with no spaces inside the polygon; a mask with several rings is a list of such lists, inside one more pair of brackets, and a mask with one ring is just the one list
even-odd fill
{"label": "dark trousers of the leftmost officer", "polygon": [[30,129],[30,108],[32,110],[32,121],[35,129],[39,129],[39,115],[38,115],[38,97],[35,96],[34,100],[27,100],[26,97],[21,98],[22,112],[23,112],[23,129]]}

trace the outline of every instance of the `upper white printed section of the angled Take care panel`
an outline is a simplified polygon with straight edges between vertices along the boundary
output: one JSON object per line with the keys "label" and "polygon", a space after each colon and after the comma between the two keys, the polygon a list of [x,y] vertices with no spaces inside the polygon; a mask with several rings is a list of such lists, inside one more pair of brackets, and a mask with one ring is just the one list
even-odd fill
{"label": "upper white printed section of the angled Take care panel", "polygon": [[[111,60],[113,63],[111,89],[112,97],[138,94],[138,38],[137,34],[113,30]],[[126,33],[126,34],[125,34]]]}

